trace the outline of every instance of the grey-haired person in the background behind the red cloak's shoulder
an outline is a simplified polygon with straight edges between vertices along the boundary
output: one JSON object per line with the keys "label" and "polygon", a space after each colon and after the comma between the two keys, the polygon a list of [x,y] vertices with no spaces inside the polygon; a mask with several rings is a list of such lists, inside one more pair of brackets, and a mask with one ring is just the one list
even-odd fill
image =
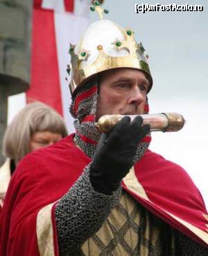
{"label": "grey-haired person in the background behind the red cloak's shoulder", "polygon": [[33,102],[22,109],[3,136],[6,162],[0,168],[0,209],[10,177],[19,161],[29,152],[46,147],[67,136],[62,117],[51,107]]}

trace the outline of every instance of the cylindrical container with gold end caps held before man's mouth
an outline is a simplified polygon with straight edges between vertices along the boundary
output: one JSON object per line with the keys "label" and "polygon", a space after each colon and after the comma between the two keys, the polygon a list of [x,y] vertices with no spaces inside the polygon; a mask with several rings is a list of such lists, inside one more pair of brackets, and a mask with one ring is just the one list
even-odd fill
{"label": "cylindrical container with gold end caps held before man's mouth", "polygon": [[[103,115],[96,122],[96,127],[101,132],[109,132],[124,116],[129,116],[131,120],[134,120],[138,115]],[[159,113],[140,116],[144,120],[144,125],[150,125],[151,131],[179,131],[184,127],[185,123],[180,113]]]}

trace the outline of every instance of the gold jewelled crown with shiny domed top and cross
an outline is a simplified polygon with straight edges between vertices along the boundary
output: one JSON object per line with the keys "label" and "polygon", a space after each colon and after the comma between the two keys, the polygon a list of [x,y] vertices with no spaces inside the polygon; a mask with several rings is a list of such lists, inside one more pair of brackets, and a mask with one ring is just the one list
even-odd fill
{"label": "gold jewelled crown with shiny domed top and cross", "polygon": [[[101,20],[92,23],[78,45],[70,45],[71,63],[67,72],[71,75],[70,90],[73,94],[88,79],[105,70],[130,67],[148,74],[150,88],[152,78],[144,47],[134,38],[132,29],[123,29],[119,24],[103,19],[103,10],[94,1],[91,10],[97,10]],[[150,90],[149,88],[149,90]]]}

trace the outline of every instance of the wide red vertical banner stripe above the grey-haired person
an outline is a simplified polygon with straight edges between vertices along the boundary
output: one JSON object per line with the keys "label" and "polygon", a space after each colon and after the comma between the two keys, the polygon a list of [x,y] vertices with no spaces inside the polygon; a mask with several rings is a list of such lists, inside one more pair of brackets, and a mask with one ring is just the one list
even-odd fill
{"label": "wide red vertical banner stripe above the grey-haired person", "polygon": [[62,115],[53,11],[33,9],[31,87],[27,102],[40,101]]}

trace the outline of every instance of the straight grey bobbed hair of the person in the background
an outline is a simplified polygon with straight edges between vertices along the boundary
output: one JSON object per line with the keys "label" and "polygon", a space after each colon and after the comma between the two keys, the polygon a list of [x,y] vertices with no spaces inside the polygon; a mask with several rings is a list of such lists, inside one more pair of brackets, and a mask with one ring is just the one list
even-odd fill
{"label": "straight grey bobbed hair of the person in the background", "polygon": [[67,136],[61,115],[41,102],[33,102],[21,109],[6,128],[3,154],[17,164],[30,150],[31,136],[37,131],[51,131]]}

